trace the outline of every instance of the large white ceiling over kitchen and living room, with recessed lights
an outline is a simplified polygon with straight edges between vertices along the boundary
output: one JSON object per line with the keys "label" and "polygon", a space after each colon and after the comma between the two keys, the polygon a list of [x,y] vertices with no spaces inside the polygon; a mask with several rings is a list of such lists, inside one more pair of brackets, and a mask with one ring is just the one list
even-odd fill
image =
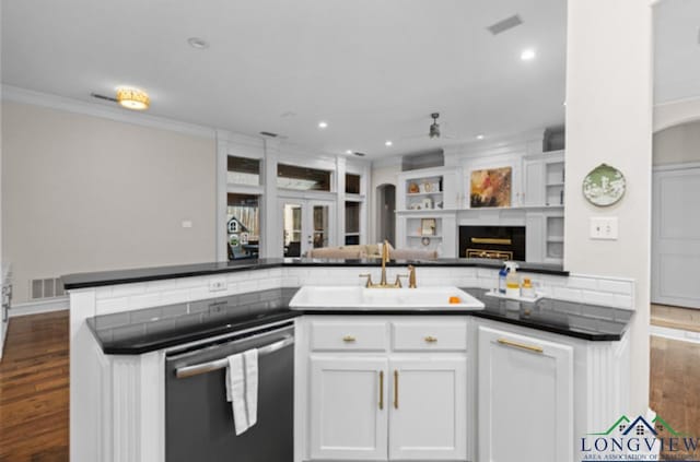
{"label": "large white ceiling over kitchen and living room, with recessed lights", "polygon": [[[486,29],[516,13],[521,26]],[[417,152],[563,123],[565,1],[3,1],[2,82],[93,102],[135,85],[158,116],[338,154]],[[428,139],[432,111],[459,140]]]}

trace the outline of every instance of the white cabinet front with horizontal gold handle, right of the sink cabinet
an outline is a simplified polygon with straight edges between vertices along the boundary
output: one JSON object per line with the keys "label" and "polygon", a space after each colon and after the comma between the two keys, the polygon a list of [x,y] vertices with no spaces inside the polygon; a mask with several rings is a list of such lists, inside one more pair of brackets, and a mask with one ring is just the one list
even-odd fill
{"label": "white cabinet front with horizontal gold handle, right of the sink cabinet", "polygon": [[573,348],[479,327],[478,460],[570,462]]}

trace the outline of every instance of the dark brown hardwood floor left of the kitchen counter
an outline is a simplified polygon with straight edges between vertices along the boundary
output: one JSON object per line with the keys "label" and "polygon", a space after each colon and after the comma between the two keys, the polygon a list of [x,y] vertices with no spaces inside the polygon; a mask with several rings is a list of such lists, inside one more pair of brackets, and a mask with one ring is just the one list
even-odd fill
{"label": "dark brown hardwood floor left of the kitchen counter", "polygon": [[0,461],[68,461],[68,311],[12,318],[0,362]]}

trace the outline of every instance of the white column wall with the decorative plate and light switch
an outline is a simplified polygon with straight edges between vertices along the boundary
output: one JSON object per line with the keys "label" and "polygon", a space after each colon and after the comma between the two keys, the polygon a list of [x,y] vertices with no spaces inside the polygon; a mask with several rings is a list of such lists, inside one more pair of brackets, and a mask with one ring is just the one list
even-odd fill
{"label": "white column wall with the decorative plate and light switch", "polygon": [[[652,8],[649,0],[569,0],[564,268],[632,277],[629,414],[649,403],[652,171]],[[623,33],[622,33],[623,32]],[[581,194],[600,163],[619,168],[627,192],[610,208]],[[616,216],[619,239],[588,238],[592,216]]]}

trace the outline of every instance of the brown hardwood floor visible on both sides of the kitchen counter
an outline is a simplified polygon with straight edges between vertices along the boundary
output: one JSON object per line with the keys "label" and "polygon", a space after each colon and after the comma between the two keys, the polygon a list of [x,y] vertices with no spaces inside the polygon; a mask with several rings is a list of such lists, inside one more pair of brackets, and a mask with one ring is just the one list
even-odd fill
{"label": "brown hardwood floor visible on both sides of the kitchen counter", "polygon": [[[0,363],[0,462],[68,461],[68,311],[12,318]],[[650,404],[700,436],[700,345],[652,336]]]}

